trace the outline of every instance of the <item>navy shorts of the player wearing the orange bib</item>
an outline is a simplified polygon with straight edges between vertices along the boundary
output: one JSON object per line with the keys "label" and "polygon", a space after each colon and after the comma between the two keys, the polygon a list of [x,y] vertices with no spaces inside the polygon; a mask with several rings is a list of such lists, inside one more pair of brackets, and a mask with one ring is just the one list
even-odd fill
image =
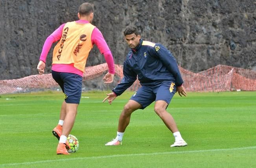
{"label": "navy shorts of the player wearing the orange bib", "polygon": [[66,103],[80,103],[82,94],[82,77],[80,75],[52,70],[52,78],[61,87]]}

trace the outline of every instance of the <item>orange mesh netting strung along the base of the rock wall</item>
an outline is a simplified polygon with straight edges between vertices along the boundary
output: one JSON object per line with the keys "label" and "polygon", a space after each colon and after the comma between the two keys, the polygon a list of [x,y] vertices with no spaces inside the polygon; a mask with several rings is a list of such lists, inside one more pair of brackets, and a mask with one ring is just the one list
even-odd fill
{"label": "orange mesh netting strung along the base of the rock wall", "polygon": [[[115,65],[116,76],[119,82],[123,78],[123,66]],[[240,69],[226,65],[193,73],[179,67],[184,80],[184,88],[192,92],[220,92],[232,90],[256,90],[256,71]],[[101,76],[108,70],[107,63],[86,67],[83,81]],[[52,78],[52,74],[31,75],[20,79],[0,80],[0,94],[26,92],[33,89],[51,89],[58,84]],[[129,88],[137,90],[140,87],[138,80]]]}

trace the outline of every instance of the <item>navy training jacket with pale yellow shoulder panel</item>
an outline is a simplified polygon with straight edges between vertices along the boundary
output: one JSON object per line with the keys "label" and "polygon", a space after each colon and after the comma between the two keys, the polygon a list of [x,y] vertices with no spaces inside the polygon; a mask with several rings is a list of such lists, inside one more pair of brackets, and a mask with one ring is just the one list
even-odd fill
{"label": "navy training jacket with pale yellow shoulder panel", "polygon": [[117,96],[138,79],[141,85],[152,85],[159,81],[173,81],[176,86],[183,83],[176,59],[161,44],[140,39],[135,49],[130,49],[123,63],[123,79],[112,90]]}

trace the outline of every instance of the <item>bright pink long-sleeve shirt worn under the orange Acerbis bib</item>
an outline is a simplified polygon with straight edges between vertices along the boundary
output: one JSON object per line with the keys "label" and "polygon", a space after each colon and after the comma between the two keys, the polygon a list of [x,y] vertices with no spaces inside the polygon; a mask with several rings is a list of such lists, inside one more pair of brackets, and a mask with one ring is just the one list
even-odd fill
{"label": "bright pink long-sleeve shirt worn under the orange Acerbis bib", "polygon": [[[89,23],[87,20],[77,20],[76,22],[84,23],[84,24]],[[46,38],[46,40],[44,42],[44,46],[42,48],[41,56],[40,56],[40,60],[44,61],[44,63],[46,62],[46,57],[52,47],[52,44],[61,39],[62,30],[63,30],[64,25],[65,25],[65,23],[62,24],[58,29],[56,29],[50,36],[48,36],[48,38]],[[101,34],[101,32],[99,31],[99,29],[97,27],[95,27],[92,31],[91,41],[92,41],[92,45],[96,44],[100,53],[104,55],[104,58],[109,67],[109,73],[114,74],[115,69],[114,69],[113,56],[111,54],[109,46],[107,45],[103,35]],[[54,70],[56,72],[74,73],[74,74],[83,76],[83,72],[79,69],[76,69],[74,67],[73,63],[71,63],[71,64],[53,64],[52,70]]]}

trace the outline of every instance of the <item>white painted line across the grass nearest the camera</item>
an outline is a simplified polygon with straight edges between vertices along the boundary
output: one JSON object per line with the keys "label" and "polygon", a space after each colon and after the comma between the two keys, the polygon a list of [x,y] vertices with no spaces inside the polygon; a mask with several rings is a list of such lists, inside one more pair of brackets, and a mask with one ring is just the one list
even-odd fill
{"label": "white painted line across the grass nearest the camera", "polygon": [[43,160],[35,162],[23,162],[23,163],[7,163],[0,164],[0,167],[6,166],[18,166],[18,165],[29,165],[38,163],[52,163],[52,162],[63,162],[63,161],[76,161],[76,160],[86,160],[86,159],[105,159],[112,157],[133,157],[133,156],[147,156],[147,155],[164,155],[164,154],[189,154],[189,153],[201,153],[201,152],[219,152],[219,151],[230,151],[230,150],[247,150],[256,149],[256,146],[241,147],[241,148],[228,148],[228,149],[210,149],[210,150],[190,150],[190,151],[176,151],[176,152],[156,152],[149,154],[122,154],[122,155],[105,155],[105,156],[92,156],[92,157],[74,157],[67,159],[55,159],[55,160]]}

